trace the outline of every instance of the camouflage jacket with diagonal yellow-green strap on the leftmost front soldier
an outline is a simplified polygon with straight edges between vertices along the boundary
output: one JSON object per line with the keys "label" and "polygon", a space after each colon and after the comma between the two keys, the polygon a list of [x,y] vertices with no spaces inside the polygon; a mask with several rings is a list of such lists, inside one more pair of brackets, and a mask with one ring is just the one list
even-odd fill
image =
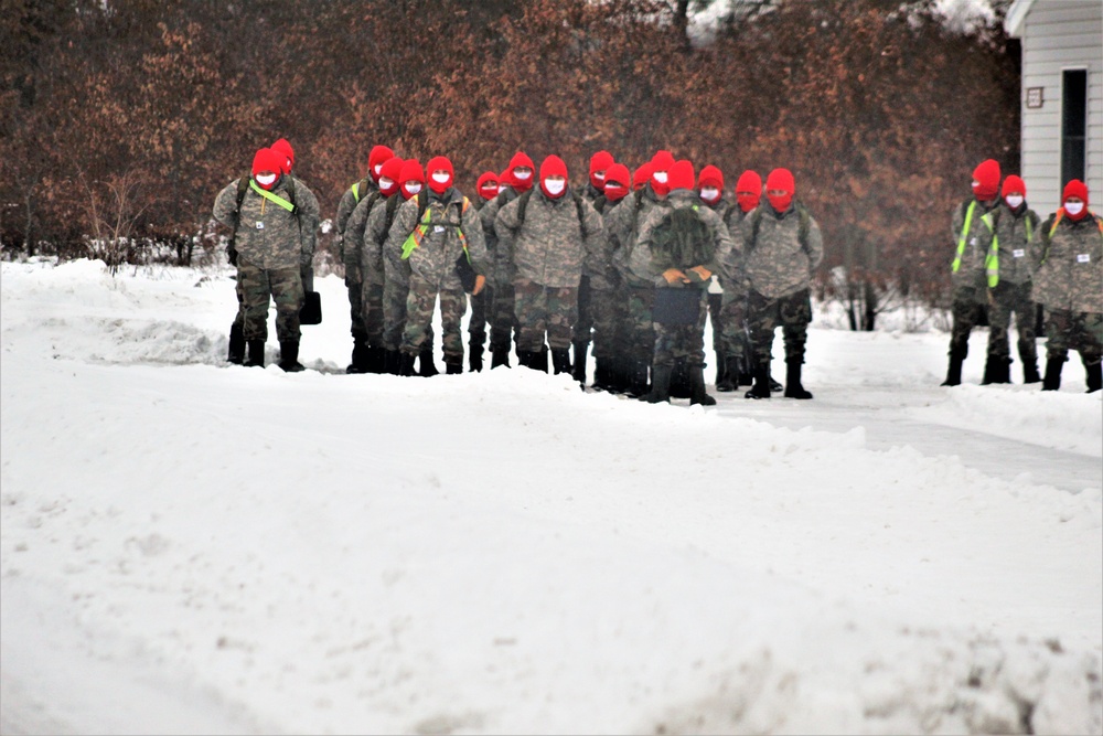
{"label": "camouflage jacket with diagonal yellow-green strap on the leftmost front soldier", "polygon": [[[318,238],[318,199],[300,180],[295,180],[296,214],[291,214],[251,186],[245,190],[237,210],[235,179],[218,193],[214,217],[234,231],[238,257],[260,268],[303,268],[310,265]],[[288,182],[280,179],[271,193],[288,200]]]}

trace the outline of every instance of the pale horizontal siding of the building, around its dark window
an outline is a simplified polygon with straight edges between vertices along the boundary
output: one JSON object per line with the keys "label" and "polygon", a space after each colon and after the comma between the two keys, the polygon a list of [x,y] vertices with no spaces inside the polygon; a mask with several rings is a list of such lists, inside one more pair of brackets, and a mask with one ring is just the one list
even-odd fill
{"label": "pale horizontal siding of the building, around its dark window", "polygon": [[[1028,201],[1042,216],[1061,204],[1062,72],[1086,68],[1085,174],[1092,199],[1103,202],[1103,2],[1035,2],[1022,24],[1021,36],[1021,173],[1029,190]],[[1041,109],[1026,107],[1026,90],[1031,87],[1042,87]]]}

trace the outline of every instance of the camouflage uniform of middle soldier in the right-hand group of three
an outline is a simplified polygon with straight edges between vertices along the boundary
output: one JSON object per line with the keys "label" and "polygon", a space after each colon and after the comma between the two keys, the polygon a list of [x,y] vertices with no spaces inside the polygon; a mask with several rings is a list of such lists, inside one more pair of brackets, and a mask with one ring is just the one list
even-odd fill
{"label": "camouflage uniform of middle soldier in the right-hand group of three", "polygon": [[999,281],[988,290],[988,356],[1009,362],[1011,351],[1007,329],[1014,312],[1019,333],[1019,358],[1025,366],[1034,366],[1037,373],[1036,307],[1030,291],[1041,221],[1025,204],[1021,212],[1016,213],[1003,202],[993,211],[992,220],[995,227],[985,241],[985,250],[990,248],[992,235],[995,235]]}

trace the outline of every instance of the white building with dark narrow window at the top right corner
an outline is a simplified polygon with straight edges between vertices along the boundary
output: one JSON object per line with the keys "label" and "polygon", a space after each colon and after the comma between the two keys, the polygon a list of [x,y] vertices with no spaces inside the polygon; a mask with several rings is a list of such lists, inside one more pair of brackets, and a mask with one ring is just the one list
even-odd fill
{"label": "white building with dark narrow window at the top right corner", "polygon": [[1046,217],[1080,179],[1103,212],[1103,0],[1015,0],[1004,25],[1022,43],[1027,201]]}

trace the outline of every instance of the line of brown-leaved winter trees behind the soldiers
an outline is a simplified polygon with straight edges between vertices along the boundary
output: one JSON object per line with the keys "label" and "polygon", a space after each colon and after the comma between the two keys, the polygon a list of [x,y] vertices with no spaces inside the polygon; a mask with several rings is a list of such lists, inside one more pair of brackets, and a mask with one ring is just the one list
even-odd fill
{"label": "line of brown-leaved winter trees behind the soldiers", "polygon": [[[1007,3],[963,33],[935,0],[735,0],[700,41],[689,2],[10,0],[4,256],[224,258],[214,196],[280,137],[330,217],[376,143],[449,156],[469,192],[516,150],[582,185],[596,150],[664,148],[730,183],[791,169],[824,233],[818,296],[853,328],[945,309],[972,167],[1018,171]],[[339,270],[330,237],[315,263]]]}

